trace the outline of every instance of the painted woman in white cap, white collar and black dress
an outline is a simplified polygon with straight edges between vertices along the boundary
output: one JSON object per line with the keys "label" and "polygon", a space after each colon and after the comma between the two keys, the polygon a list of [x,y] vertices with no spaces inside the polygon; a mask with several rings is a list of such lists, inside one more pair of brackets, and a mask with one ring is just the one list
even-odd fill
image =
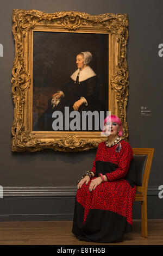
{"label": "painted woman in white cap, white collar and black dress", "polygon": [[[39,129],[53,131],[52,114],[61,111],[64,114],[65,107],[69,112],[100,111],[99,82],[95,71],[88,65],[92,60],[90,52],[81,52],[76,57],[77,70],[58,92],[54,92],[49,100],[48,109],[39,119]],[[46,127],[46,128],[45,128]]]}

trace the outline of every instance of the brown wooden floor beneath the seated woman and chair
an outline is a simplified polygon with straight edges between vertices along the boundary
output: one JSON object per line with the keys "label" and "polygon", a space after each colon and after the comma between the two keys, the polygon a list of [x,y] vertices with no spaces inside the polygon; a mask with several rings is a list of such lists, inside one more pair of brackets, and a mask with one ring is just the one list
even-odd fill
{"label": "brown wooden floor beneath the seated woman and chair", "polygon": [[[124,241],[108,245],[163,245],[163,220],[148,220],[148,238],[141,237],[141,222],[134,220]],[[72,221],[0,222],[0,245],[107,245],[79,241]]]}

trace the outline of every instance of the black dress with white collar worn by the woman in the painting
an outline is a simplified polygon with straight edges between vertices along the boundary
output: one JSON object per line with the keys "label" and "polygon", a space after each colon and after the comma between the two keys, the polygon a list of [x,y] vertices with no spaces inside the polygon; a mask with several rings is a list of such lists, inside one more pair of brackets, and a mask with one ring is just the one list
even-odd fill
{"label": "black dress with white collar worn by the woman in the painting", "polygon": [[39,119],[38,127],[40,131],[53,131],[53,112],[61,111],[63,113],[63,120],[65,120],[65,107],[69,107],[69,112],[74,111],[74,102],[80,100],[81,97],[84,99],[84,103],[78,109],[80,114],[82,111],[101,111],[101,103],[98,97],[100,87],[95,72],[90,66],[86,66],[83,71],[80,71],[79,76],[78,73],[79,69],[70,77],[70,81],[61,88],[64,97],[61,97],[57,106],[53,107],[52,99],[49,100],[47,110]]}

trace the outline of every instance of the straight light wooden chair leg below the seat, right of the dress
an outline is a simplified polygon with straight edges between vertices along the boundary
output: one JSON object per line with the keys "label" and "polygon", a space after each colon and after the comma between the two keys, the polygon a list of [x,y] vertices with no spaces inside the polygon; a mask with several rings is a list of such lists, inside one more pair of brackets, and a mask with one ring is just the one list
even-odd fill
{"label": "straight light wooden chair leg below the seat, right of the dress", "polygon": [[147,198],[141,202],[141,235],[142,237],[148,236],[147,227]]}

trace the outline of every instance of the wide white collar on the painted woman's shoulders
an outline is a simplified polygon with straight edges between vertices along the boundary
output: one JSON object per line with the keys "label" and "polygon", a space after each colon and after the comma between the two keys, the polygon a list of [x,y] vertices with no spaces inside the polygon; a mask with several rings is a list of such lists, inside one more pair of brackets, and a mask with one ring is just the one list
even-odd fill
{"label": "wide white collar on the painted woman's shoulders", "polygon": [[[77,69],[71,76],[72,80],[77,80],[77,75],[79,73],[79,69]],[[86,66],[85,69],[80,71],[79,74],[79,82],[85,81],[90,77],[96,76],[95,72],[91,69],[90,66]]]}

